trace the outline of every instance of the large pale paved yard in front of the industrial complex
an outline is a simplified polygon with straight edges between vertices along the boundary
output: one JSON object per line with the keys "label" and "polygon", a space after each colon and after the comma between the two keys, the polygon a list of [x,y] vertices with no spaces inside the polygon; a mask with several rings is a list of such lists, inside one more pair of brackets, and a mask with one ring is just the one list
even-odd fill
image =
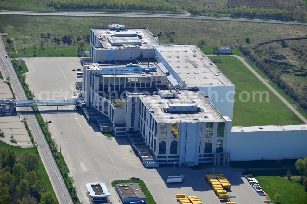
{"label": "large pale paved yard in front of the industrial complex", "polygon": [[[33,87],[35,77],[36,99],[54,99],[54,92],[59,94],[56,99],[70,99],[75,90],[75,82],[81,81],[76,77],[73,68],[79,68],[79,58],[27,58],[24,59],[29,73],[27,83]],[[62,93],[62,98],[60,97]],[[66,96],[65,96],[66,93]],[[49,94],[49,95],[48,95]],[[70,94],[70,95],[69,95]],[[49,96],[49,97],[48,97]],[[39,108],[43,117],[46,117],[46,107]],[[207,166],[202,170],[192,170],[189,167],[159,167],[146,169],[138,157],[130,152],[131,146],[126,137],[108,138],[92,122],[87,123],[80,110],[73,107],[48,107],[49,130],[52,137],[59,144],[59,150],[74,177],[74,185],[77,194],[83,203],[89,203],[87,198],[86,183],[105,183],[111,192],[112,203],[121,203],[115,189],[111,187],[111,181],[139,177],[146,183],[157,204],[177,204],[176,193],[196,195],[203,203],[223,203],[212,190],[212,187],[204,179],[204,175],[212,167]],[[62,133],[62,139],[61,139]],[[60,145],[61,144],[61,145]],[[230,167],[215,167],[215,172],[223,173],[231,183],[229,192],[231,201],[236,203],[263,203],[265,197],[259,196],[242,176],[242,169]],[[172,175],[184,175],[183,183],[166,183],[168,172]],[[226,201],[225,201],[226,202]]]}

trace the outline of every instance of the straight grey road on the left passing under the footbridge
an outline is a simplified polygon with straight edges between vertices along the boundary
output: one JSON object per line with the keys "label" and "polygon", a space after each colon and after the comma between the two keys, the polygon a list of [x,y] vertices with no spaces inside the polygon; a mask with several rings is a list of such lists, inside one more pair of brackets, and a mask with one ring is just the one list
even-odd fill
{"label": "straight grey road on the left passing under the footbridge", "polygon": [[[14,71],[14,68],[10,62],[10,58],[5,58],[7,55],[4,49],[4,42],[0,37],[0,70],[4,78],[6,76],[10,76],[10,83],[12,85],[12,89],[18,100],[27,100],[25,92],[22,89],[22,86],[19,82],[17,74]],[[29,111],[31,113],[32,109],[29,107],[22,108],[21,111]],[[64,180],[60,175],[60,171],[56,166],[56,163],[52,157],[49,146],[45,140],[45,137],[39,127],[39,124],[33,114],[25,114],[21,117],[25,117],[29,121],[29,125],[32,128],[32,132],[35,138],[35,141],[38,143],[38,152],[43,161],[44,167],[47,171],[49,179],[51,181],[52,187],[56,193],[56,197],[60,204],[68,204],[72,203],[71,197],[68,193],[68,190],[65,186]]]}

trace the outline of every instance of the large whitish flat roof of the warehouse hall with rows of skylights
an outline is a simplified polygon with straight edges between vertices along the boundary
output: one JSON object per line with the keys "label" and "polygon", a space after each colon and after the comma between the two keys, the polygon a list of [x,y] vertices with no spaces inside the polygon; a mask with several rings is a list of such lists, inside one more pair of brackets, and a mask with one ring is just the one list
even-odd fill
{"label": "large whitish flat roof of the warehouse hall with rows of skylights", "polygon": [[[187,87],[234,86],[196,45],[155,45],[154,48]],[[169,70],[171,71],[171,70]]]}

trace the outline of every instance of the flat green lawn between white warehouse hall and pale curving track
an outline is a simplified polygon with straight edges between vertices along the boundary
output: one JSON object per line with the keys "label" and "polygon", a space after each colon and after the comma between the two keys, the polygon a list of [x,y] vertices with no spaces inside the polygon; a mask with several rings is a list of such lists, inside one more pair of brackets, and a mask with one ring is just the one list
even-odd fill
{"label": "flat green lawn between white warehouse hall and pale curving track", "polygon": [[[233,114],[233,126],[253,125],[292,125],[303,124],[289,107],[278,99],[261,81],[255,77],[238,59],[231,56],[212,56],[210,59],[222,59],[223,63],[216,64],[219,69],[235,85],[235,103]],[[269,102],[266,102],[266,95],[263,95],[262,102],[259,94],[255,96],[255,102],[239,100],[239,93],[247,91],[252,99],[253,91],[267,91]],[[246,94],[243,94],[246,99]]]}

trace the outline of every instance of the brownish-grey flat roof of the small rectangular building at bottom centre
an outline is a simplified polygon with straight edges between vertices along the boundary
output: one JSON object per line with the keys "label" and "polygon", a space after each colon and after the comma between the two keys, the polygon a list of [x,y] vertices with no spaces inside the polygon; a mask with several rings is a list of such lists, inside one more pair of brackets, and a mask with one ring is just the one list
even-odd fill
{"label": "brownish-grey flat roof of the small rectangular building at bottom centre", "polygon": [[131,197],[138,197],[138,199],[146,198],[145,194],[143,193],[138,183],[115,183],[115,186],[119,188],[119,191],[122,193],[122,196],[124,198],[131,198]]}

